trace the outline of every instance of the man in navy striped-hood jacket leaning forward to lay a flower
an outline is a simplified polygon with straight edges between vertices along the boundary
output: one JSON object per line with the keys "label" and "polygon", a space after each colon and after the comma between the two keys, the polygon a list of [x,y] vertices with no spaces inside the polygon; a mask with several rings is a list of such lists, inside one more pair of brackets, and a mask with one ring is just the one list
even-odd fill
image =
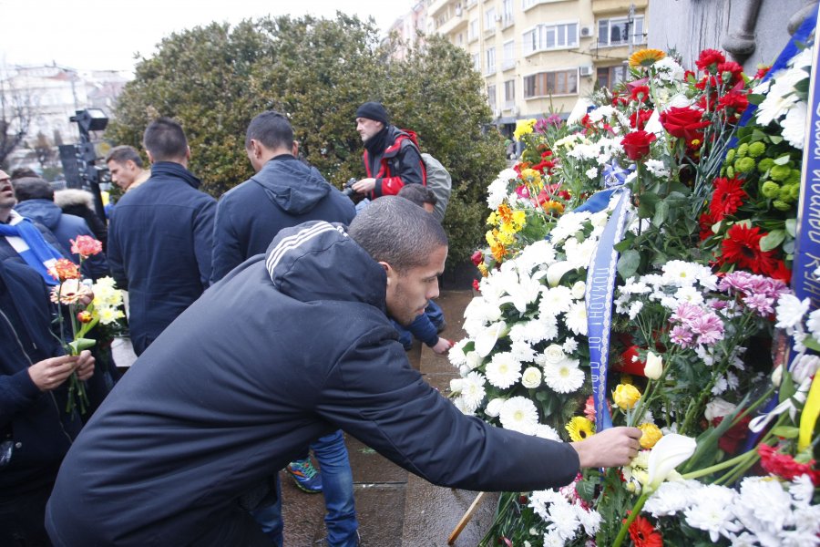
{"label": "man in navy striped-hood jacket leaning forward to lay a flower", "polygon": [[542,490],[628,463],[638,428],[571,444],[496,428],[410,366],[387,314],[424,313],[446,254],[434,216],[395,196],[349,230],[279,232],[159,336],[80,433],[46,509],[56,547],[270,545],[244,508],[337,428],[468,490]]}

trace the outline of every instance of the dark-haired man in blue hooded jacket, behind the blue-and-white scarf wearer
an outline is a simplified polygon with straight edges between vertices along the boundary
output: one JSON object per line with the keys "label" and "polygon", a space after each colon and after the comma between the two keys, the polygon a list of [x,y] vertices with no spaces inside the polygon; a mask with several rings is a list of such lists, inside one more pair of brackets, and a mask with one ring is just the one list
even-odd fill
{"label": "dark-haired man in blue hooded jacket, behind the blue-and-white scarf wearer", "polygon": [[[54,202],[54,189],[48,181],[36,177],[23,177],[15,179],[13,184],[17,198],[15,211],[46,226],[69,253],[71,240],[77,239],[78,235],[95,237],[85,219],[64,213]],[[76,254],[72,254],[71,258],[74,262],[78,260]],[[108,275],[105,255],[99,253],[89,256],[83,262],[83,274],[94,280]]]}

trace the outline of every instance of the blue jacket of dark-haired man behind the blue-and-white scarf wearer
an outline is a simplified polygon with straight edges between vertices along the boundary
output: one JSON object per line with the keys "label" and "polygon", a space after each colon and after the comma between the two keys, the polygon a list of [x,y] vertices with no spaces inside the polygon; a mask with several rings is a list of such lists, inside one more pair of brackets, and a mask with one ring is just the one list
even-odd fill
{"label": "blue jacket of dark-haired man behind the blue-and-white scarf wearer", "polygon": [[[15,211],[23,216],[40,222],[52,233],[56,240],[71,252],[71,240],[77,239],[78,235],[87,235],[97,239],[94,232],[88,227],[85,219],[73,214],[66,214],[59,206],[51,200],[26,200],[20,201],[15,206]],[[77,262],[77,256],[73,256]],[[83,261],[83,274],[95,281],[100,277],[108,275],[108,262],[103,253],[89,256]]]}

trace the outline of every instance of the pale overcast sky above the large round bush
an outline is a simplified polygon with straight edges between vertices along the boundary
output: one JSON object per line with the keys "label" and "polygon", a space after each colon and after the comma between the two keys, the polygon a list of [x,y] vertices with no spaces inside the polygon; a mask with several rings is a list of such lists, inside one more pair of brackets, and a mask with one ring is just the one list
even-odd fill
{"label": "pale overcast sky above the large round bush", "polygon": [[381,29],[413,0],[0,0],[0,67],[56,62],[79,70],[132,70],[164,36],[212,21],[265,15],[373,16]]}

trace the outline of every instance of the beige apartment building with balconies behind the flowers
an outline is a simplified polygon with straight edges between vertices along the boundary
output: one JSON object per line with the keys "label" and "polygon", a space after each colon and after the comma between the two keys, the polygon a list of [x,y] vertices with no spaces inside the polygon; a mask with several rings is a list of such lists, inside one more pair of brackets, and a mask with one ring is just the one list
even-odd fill
{"label": "beige apartment building with balconies behind the flowers", "polygon": [[427,29],[473,59],[507,135],[517,119],[566,117],[596,85],[611,88],[646,44],[649,0],[433,0]]}

